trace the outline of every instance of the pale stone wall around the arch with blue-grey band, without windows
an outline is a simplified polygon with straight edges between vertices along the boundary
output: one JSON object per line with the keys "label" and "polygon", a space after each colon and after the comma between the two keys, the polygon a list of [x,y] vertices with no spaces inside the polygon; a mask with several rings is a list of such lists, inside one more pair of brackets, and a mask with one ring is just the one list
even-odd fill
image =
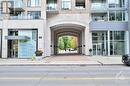
{"label": "pale stone wall around the arch with blue-grey band, without windows", "polygon": [[[50,47],[52,44],[52,33],[51,30],[53,26],[63,28],[64,25],[71,25],[76,28],[81,29],[79,26],[85,27],[82,31],[82,39],[85,48],[82,49],[83,54],[89,55],[89,49],[92,48],[92,32],[93,31],[111,31],[111,30],[120,30],[120,31],[129,31],[130,33],[130,22],[108,22],[108,21],[100,21],[93,22],[91,19],[91,0],[86,1],[86,8],[83,10],[79,10],[75,8],[75,0],[72,0],[72,9],[71,10],[61,10],[61,0],[57,2],[57,10],[56,12],[46,11],[46,0],[41,0],[41,7],[28,7],[27,0],[25,2],[25,14],[27,11],[41,11],[41,19],[31,20],[31,19],[22,19],[22,20],[10,20],[9,15],[3,15],[3,20],[0,21],[0,29],[2,29],[2,57],[7,58],[7,40],[5,40],[5,36],[8,35],[8,29],[38,29],[38,49],[43,50],[44,56],[51,56],[53,49]],[[130,0],[129,4],[130,4]],[[128,7],[130,9],[130,5]],[[129,11],[130,14],[130,11]],[[1,18],[0,18],[1,19]],[[130,15],[129,15],[130,21]],[[126,34],[126,39],[130,40],[128,37],[129,33]],[[130,36],[130,35],[129,35]],[[126,45],[130,45],[130,41]],[[128,46],[129,46],[128,45]],[[109,47],[110,48],[110,47]],[[128,53],[130,48],[126,52]]]}

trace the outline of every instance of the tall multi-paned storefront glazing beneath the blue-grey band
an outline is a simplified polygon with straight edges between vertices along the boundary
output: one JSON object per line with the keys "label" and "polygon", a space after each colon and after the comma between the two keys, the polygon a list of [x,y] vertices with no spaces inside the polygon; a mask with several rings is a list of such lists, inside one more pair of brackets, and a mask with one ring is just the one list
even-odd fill
{"label": "tall multi-paned storefront glazing beneath the blue-grey band", "polygon": [[92,32],[93,55],[125,54],[125,32],[110,31],[110,41],[108,36],[107,32]]}

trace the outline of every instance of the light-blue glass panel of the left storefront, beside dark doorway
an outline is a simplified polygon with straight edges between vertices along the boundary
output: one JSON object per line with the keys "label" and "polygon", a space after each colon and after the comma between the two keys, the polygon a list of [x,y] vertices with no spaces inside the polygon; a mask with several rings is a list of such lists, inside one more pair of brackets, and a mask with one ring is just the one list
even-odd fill
{"label": "light-blue glass panel of the left storefront, beside dark doorway", "polygon": [[37,43],[37,31],[36,30],[19,30],[19,36],[27,36],[29,40],[19,40],[19,57],[31,58],[35,55],[36,43]]}

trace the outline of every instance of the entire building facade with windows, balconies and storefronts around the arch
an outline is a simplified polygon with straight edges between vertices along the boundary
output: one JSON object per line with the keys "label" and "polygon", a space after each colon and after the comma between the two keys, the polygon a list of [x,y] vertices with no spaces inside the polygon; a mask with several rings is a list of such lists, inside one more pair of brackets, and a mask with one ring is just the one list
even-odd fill
{"label": "entire building facade with windows, balconies and storefronts around the arch", "polygon": [[0,0],[0,57],[58,54],[58,38],[78,38],[77,54],[130,52],[129,0]]}

